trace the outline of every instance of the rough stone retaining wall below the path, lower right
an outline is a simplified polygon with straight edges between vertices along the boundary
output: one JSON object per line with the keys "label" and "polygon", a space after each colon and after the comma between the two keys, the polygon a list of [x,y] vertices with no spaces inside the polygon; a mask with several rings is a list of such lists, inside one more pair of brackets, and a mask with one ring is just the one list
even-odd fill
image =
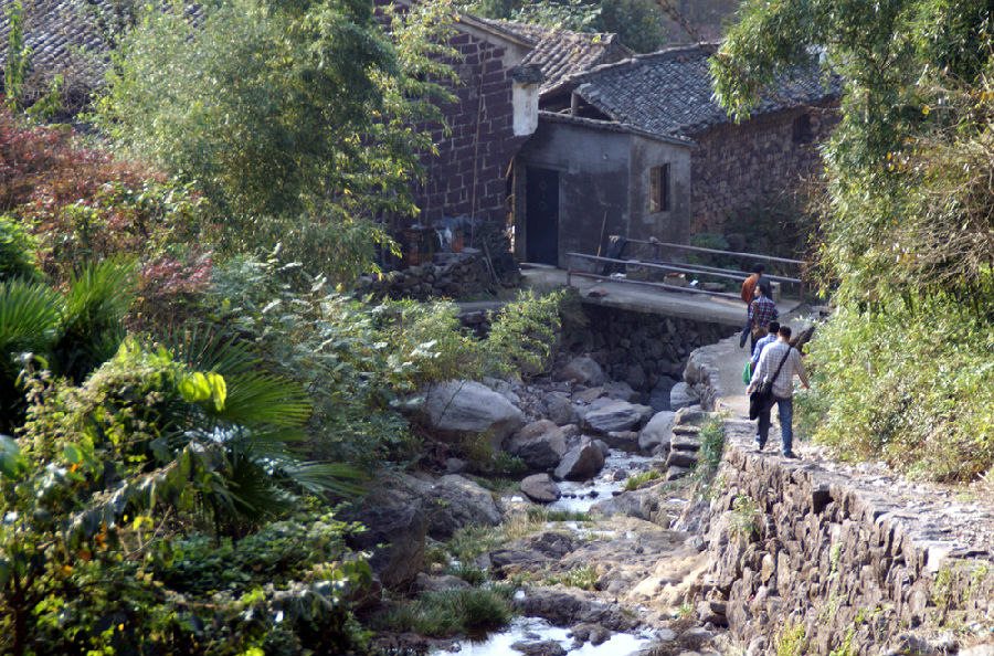
{"label": "rough stone retaining wall below the path, lower right", "polygon": [[761,638],[759,653],[774,653],[803,628],[803,654],[938,654],[942,629],[990,633],[991,554],[971,558],[929,509],[742,445],[726,452],[718,482],[705,591],[743,646]]}

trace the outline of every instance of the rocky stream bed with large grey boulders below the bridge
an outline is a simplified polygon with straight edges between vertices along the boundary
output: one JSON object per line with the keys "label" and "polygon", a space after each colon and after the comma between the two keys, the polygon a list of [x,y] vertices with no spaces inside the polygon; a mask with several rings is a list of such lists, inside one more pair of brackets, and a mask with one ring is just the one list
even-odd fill
{"label": "rocky stream bed with large grey boulders below the bridge", "polygon": [[[567,362],[544,384],[488,382],[433,390],[429,421],[442,435],[488,436],[529,469],[520,483],[493,493],[452,457],[441,476],[398,474],[356,517],[380,527],[356,546],[389,541],[372,564],[384,586],[408,597],[469,586],[454,569],[485,571],[483,585],[514,586],[515,617],[475,639],[384,634],[380,645],[438,656],[726,653],[720,605],[700,621],[688,603],[707,565],[704,540],[673,528],[697,494],[688,474],[710,416],[689,388],[670,394],[677,411],[657,412],[589,358]],[[470,562],[423,564],[426,551],[474,526],[490,527],[498,542]]]}

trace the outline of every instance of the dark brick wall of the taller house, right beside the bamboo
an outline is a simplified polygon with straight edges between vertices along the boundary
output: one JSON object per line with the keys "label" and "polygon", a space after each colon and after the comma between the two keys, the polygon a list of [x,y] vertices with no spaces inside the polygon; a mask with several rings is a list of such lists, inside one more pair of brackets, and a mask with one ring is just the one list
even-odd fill
{"label": "dark brick wall of the taller house, right beside the bamboo", "polygon": [[[461,55],[452,63],[459,84],[456,99],[442,106],[451,134],[433,126],[438,156],[425,156],[424,184],[414,200],[424,224],[442,216],[476,216],[504,224],[505,174],[527,137],[514,134],[514,80],[505,49],[467,32],[450,40]],[[475,191],[475,195],[474,195]]]}

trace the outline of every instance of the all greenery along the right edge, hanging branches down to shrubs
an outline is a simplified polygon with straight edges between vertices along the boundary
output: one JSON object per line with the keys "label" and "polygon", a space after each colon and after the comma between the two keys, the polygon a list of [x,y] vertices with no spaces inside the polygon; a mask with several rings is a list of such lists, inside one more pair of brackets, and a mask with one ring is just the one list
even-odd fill
{"label": "all greenery along the right edge, hanging branches down to shrubs", "polygon": [[818,440],[938,479],[994,465],[994,47],[984,2],[743,3],[711,66],[747,116],[802,60],[839,74],[812,345]]}

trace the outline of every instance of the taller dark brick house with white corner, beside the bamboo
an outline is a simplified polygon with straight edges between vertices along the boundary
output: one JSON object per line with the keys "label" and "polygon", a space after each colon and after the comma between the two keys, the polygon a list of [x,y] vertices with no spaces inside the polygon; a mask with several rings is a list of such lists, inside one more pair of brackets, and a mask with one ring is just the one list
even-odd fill
{"label": "taller dark brick house with white corner, beside the bamboo", "polygon": [[461,84],[443,105],[451,130],[433,127],[437,157],[426,157],[426,182],[415,188],[423,223],[476,216],[503,226],[512,160],[538,127],[540,95],[570,75],[621,61],[632,52],[616,34],[581,34],[542,25],[457,14],[450,44]]}

